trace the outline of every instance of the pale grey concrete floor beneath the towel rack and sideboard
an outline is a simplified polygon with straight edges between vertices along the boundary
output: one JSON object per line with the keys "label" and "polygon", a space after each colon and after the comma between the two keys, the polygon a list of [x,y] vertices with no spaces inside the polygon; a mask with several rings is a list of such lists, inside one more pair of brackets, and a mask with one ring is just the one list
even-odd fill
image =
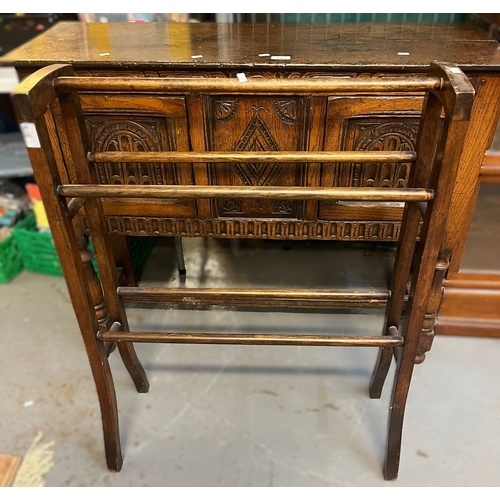
{"label": "pale grey concrete floor beneath the towel rack and sideboard", "polygon": [[[384,246],[184,244],[186,286],[385,286],[393,258]],[[177,286],[173,256],[162,240],[141,284]],[[378,335],[382,327],[379,312],[131,309],[129,320],[152,331]],[[0,453],[23,455],[43,432],[55,443],[46,486],[500,486],[500,339],[435,340],[415,370],[393,483],[382,463],[394,367],[382,399],[370,400],[374,349],[139,344],[148,394],[135,392],[114,353],[125,455],[117,474],[105,465],[64,280],[23,272],[0,286],[0,334]]]}

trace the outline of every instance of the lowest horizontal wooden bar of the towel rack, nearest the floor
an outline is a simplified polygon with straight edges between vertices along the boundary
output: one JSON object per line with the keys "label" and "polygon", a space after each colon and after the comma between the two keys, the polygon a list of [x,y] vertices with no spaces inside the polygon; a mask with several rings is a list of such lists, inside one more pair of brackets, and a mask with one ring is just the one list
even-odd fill
{"label": "lowest horizontal wooden bar of the towel rack, nearest the floor", "polygon": [[295,346],[345,346],[345,347],[397,347],[403,337],[349,337],[340,335],[286,335],[240,333],[156,333],[156,332],[99,332],[103,342],[144,342],[166,344],[244,344],[244,345],[295,345]]}

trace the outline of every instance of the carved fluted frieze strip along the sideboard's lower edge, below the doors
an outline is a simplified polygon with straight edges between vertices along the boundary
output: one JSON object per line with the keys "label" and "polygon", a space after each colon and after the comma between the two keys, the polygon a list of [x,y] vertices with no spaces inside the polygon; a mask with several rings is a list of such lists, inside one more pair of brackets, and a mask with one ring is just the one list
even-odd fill
{"label": "carved fluted frieze strip along the sideboard's lower edge, below the doors", "polygon": [[111,233],[133,236],[397,241],[400,222],[188,219],[107,216]]}

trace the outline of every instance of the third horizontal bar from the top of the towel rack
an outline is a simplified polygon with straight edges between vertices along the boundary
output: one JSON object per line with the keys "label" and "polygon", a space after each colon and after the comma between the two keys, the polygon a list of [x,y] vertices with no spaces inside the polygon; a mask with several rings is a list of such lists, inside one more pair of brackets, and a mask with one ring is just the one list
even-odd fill
{"label": "third horizontal bar from the top of the towel rack", "polygon": [[86,198],[271,198],[288,200],[429,201],[422,188],[327,188],[296,186],[137,186],[65,184],[57,193]]}

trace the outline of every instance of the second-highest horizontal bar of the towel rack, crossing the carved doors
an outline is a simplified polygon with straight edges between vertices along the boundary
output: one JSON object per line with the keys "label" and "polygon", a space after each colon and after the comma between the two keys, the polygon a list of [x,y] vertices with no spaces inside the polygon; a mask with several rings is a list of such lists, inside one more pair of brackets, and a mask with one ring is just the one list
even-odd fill
{"label": "second-highest horizontal bar of the towel rack, crossing the carved doors", "polygon": [[87,156],[89,161],[95,163],[406,163],[416,158],[413,151],[102,151]]}

